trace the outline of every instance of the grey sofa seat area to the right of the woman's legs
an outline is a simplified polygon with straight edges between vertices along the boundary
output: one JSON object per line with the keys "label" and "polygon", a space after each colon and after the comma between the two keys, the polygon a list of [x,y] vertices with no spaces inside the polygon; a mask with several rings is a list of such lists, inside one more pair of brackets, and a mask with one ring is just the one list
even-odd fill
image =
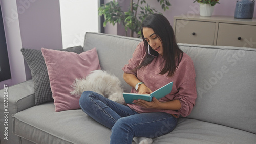
{"label": "grey sofa seat area to the right of the woman's legs", "polygon": [[[163,129],[164,130],[164,129]],[[179,118],[175,129],[154,139],[154,143],[255,143],[256,134],[223,125]]]}

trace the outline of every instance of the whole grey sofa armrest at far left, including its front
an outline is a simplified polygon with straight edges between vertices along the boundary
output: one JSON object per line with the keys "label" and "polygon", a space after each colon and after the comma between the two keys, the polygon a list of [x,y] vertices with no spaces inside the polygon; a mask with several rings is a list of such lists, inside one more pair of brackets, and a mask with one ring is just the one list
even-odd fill
{"label": "whole grey sofa armrest at far left, including its front", "polygon": [[[12,115],[35,105],[34,81],[8,86],[6,90],[8,91],[0,90],[0,129],[4,131],[0,140],[3,143],[20,143],[20,137],[12,133]],[[8,92],[8,97],[5,92]]]}

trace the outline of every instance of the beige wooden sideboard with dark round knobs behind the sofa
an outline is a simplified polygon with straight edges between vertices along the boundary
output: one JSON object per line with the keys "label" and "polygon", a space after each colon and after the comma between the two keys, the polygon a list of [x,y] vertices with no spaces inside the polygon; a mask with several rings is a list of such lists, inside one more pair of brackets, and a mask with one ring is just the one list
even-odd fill
{"label": "beige wooden sideboard with dark round knobs behind the sofa", "polygon": [[175,16],[178,43],[256,48],[256,19],[231,16]]}

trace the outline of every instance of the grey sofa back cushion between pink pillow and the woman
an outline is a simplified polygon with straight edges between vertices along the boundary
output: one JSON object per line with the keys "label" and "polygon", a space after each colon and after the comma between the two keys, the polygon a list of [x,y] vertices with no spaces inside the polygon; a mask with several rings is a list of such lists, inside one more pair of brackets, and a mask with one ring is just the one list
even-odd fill
{"label": "grey sofa back cushion between pink pillow and the woman", "polygon": [[139,38],[87,32],[83,51],[96,47],[101,69],[117,76],[123,84],[124,92],[130,92],[131,86],[123,80],[122,68],[132,58],[141,41]]}

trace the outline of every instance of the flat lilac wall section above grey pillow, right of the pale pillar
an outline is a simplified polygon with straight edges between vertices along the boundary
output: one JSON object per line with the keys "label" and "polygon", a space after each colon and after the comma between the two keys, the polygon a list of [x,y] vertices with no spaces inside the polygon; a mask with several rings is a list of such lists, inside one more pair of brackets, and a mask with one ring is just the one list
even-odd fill
{"label": "flat lilac wall section above grey pillow, right of the pale pillar", "polygon": [[[24,11],[19,13],[22,47],[37,50],[42,47],[62,49],[59,1],[30,1],[27,1],[27,4],[24,5],[20,3],[20,0],[17,0],[17,8],[25,8]],[[32,78],[31,71],[26,61],[24,64],[26,80],[29,80]]]}

